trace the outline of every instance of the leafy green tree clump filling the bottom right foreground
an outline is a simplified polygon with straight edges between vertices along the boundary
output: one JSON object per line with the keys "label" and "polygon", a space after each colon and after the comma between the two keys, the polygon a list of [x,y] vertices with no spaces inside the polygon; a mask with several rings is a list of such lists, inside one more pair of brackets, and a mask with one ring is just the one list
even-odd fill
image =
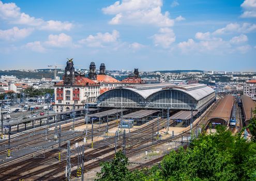
{"label": "leafy green tree clump filling the bottom right foreground", "polygon": [[97,180],[256,180],[256,143],[225,127],[216,129],[192,139],[187,149],[172,150],[150,169],[130,172],[128,159],[118,152],[111,162],[101,163]]}

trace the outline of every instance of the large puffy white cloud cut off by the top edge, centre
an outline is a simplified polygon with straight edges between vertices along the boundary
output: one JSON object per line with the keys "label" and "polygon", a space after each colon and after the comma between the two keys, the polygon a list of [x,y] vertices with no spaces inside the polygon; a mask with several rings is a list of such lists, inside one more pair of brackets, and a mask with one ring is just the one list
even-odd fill
{"label": "large puffy white cloud cut off by the top edge, centre", "polygon": [[115,15],[109,24],[150,24],[160,27],[174,25],[169,12],[161,12],[161,0],[123,0],[102,8],[105,14]]}

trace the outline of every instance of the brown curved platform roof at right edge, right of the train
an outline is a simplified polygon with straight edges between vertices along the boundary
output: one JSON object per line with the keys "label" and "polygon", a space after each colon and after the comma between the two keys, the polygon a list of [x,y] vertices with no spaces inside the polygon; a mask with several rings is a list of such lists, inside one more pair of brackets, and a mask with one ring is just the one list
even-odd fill
{"label": "brown curved platform roof at right edge, right of the train", "polygon": [[251,119],[251,116],[255,116],[253,114],[253,111],[255,110],[256,104],[255,102],[246,95],[242,95],[241,96],[241,100],[243,103],[243,112],[244,112],[244,116],[245,116],[245,123],[247,124],[249,122],[249,120]]}

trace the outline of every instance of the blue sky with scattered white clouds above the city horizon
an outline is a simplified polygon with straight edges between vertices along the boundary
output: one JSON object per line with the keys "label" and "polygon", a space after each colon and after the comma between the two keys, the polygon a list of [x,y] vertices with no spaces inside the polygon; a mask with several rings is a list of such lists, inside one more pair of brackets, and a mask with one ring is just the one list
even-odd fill
{"label": "blue sky with scattered white clouds above the city horizon", "polygon": [[0,1],[0,69],[256,71],[256,0]]}

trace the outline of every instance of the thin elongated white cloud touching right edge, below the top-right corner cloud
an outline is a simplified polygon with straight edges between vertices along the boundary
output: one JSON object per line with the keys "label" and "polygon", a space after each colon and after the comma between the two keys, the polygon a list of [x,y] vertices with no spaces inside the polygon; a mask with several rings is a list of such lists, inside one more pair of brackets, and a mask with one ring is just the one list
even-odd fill
{"label": "thin elongated white cloud touching right edge, below the top-right corner cloud", "polygon": [[256,24],[251,23],[230,23],[227,26],[217,29],[213,34],[222,35],[225,33],[250,33],[256,31]]}

